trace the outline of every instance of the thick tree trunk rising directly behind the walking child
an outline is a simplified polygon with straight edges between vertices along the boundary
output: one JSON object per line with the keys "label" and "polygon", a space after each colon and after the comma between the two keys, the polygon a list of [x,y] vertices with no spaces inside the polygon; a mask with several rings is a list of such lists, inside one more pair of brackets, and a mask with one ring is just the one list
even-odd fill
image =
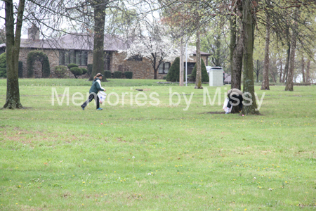
{"label": "thick tree trunk rising directly behind the walking child", "polygon": [[[108,2],[108,0],[107,0]],[[93,39],[93,66],[89,80],[98,72],[104,73],[104,29],[105,29],[105,7],[107,2],[102,0],[93,1],[94,7],[94,39]],[[105,77],[104,77],[105,78]]]}

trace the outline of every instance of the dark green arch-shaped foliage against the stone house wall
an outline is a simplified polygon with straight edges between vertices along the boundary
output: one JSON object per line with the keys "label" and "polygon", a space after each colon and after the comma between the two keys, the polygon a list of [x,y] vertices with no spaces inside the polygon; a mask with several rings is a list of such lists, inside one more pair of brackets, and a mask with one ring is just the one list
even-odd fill
{"label": "dark green arch-shaped foliage against the stone house wall", "polygon": [[42,51],[29,51],[27,54],[27,77],[34,75],[34,62],[39,60],[41,63],[41,77],[49,77],[51,75],[51,68],[46,53]]}

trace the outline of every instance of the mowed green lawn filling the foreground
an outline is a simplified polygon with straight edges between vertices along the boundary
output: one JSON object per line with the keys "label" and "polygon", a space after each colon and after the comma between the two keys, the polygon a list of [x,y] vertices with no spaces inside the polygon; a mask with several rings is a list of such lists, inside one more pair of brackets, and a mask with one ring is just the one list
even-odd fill
{"label": "mowed green lawn filling the foreground", "polygon": [[[263,115],[240,116],[209,113],[223,106],[207,97],[203,106],[204,90],[192,84],[136,79],[126,87],[103,82],[107,94],[119,95],[117,106],[105,102],[96,111],[92,101],[83,111],[72,94],[86,99],[90,86],[66,80],[29,86],[37,79],[21,79],[27,109],[0,110],[0,210],[316,209],[315,86],[255,87],[259,98],[265,92]],[[6,81],[0,84],[3,106]],[[55,96],[52,106],[52,88],[61,100],[67,87],[70,105],[65,96],[58,106]],[[205,88],[213,100],[217,87]],[[169,103],[170,89],[180,93],[178,106]],[[221,103],[227,89],[220,89]],[[150,105],[157,103],[152,92],[158,106]],[[188,101],[191,92],[185,111],[183,93]],[[138,93],[147,96],[139,101],[145,106],[136,105]]]}

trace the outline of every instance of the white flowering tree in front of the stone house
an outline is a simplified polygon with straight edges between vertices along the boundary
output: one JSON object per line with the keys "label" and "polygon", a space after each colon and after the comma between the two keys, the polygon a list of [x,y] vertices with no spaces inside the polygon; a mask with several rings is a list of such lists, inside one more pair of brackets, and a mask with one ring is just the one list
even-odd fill
{"label": "white flowering tree in front of the stone house", "polygon": [[[145,35],[143,35],[144,31]],[[179,56],[179,51],[174,46],[171,37],[163,34],[164,32],[166,29],[162,25],[154,25],[154,27],[146,27],[146,30],[139,30],[129,48],[120,50],[119,53],[126,52],[125,59],[133,56],[149,59],[154,70],[154,79],[157,79],[159,65],[162,62],[173,62]]]}

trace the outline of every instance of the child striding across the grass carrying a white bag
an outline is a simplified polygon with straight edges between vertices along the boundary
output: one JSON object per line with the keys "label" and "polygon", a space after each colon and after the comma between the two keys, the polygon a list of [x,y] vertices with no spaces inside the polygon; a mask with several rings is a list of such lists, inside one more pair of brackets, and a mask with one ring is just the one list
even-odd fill
{"label": "child striding across the grass carrying a white bag", "polygon": [[103,110],[103,108],[100,108],[100,102],[99,102],[99,97],[98,97],[98,92],[99,91],[105,91],[105,89],[103,87],[101,87],[101,81],[102,80],[103,75],[101,73],[98,73],[95,77],[93,77],[93,82],[92,82],[92,86],[89,90],[89,97],[88,99],[84,102],[84,104],[81,105],[82,110],[84,110],[84,108],[86,108],[86,106],[88,106],[88,103],[90,103],[92,101],[92,99],[94,98],[94,100],[96,101],[97,104],[97,110]]}

